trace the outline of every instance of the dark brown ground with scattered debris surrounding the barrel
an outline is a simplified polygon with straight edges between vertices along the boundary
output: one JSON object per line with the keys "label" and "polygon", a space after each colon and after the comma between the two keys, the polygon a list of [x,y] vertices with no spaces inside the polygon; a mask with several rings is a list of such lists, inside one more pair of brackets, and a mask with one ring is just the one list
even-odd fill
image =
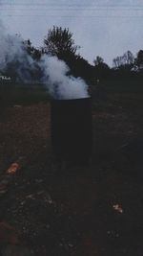
{"label": "dark brown ground with scattered debris surrounding the barrel", "polygon": [[92,103],[87,166],[55,162],[50,125],[50,104],[1,109],[0,255],[142,256],[143,94]]}

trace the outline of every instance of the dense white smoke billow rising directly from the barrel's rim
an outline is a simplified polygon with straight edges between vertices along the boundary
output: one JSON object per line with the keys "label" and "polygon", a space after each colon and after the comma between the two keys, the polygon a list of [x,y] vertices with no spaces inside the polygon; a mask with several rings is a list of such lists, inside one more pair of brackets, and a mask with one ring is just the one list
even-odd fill
{"label": "dense white smoke billow rising directly from the barrel's rim", "polygon": [[88,97],[88,85],[81,78],[67,76],[69,67],[56,57],[43,56],[44,80],[54,98],[78,99]]}

